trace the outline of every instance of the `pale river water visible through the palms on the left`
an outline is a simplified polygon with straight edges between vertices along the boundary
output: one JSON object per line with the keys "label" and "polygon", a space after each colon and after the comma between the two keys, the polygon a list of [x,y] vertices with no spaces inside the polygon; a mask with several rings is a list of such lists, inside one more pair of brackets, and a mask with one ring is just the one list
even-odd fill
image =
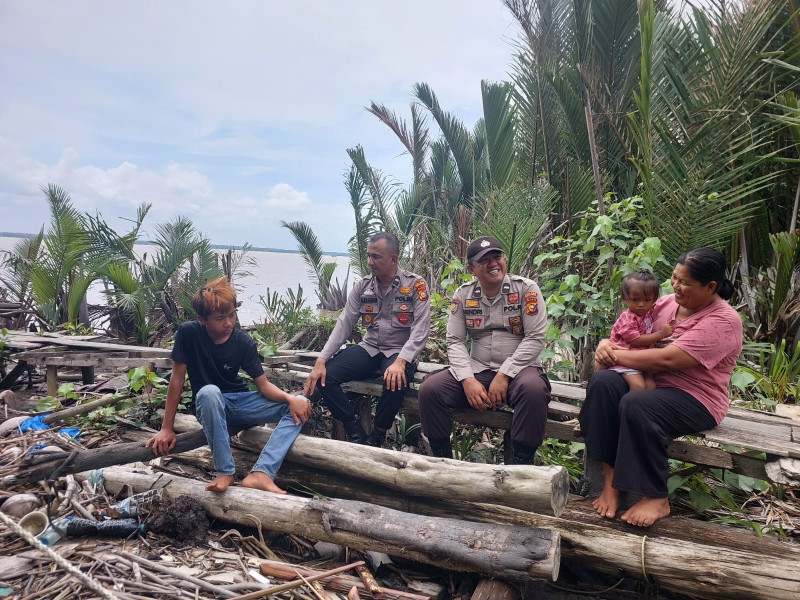
{"label": "pale river water visible through the palms on the left", "polygon": [[[0,236],[0,250],[11,250],[17,241],[19,238]],[[134,250],[140,256],[144,252],[152,254],[156,249],[156,246],[150,245],[137,244],[134,246]],[[224,251],[219,250],[218,252]],[[259,297],[266,295],[267,289],[270,292],[277,291],[280,295],[285,296],[287,288],[296,292],[299,284],[303,288],[306,306],[310,306],[316,311],[318,300],[314,293],[315,280],[308,276],[308,267],[299,254],[251,251],[248,256],[255,260],[255,266],[245,267],[245,269],[253,274],[234,282],[238,289],[238,299],[242,302],[242,306],[239,308],[239,321],[242,325],[251,325],[264,320],[264,309],[259,302]],[[334,280],[338,277],[340,282],[344,281],[349,258],[325,256],[324,260],[336,263]],[[348,289],[352,287],[354,280],[355,277],[351,273]],[[100,286],[95,285],[89,290],[88,300],[90,304],[106,303]]]}

